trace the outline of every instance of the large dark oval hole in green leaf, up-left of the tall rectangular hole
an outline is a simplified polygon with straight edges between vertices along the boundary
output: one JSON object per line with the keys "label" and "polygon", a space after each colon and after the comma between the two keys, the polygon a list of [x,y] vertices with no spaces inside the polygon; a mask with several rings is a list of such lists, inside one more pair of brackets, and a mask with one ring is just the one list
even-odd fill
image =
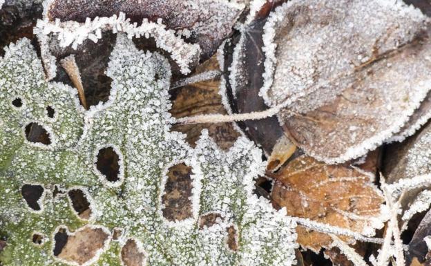
{"label": "large dark oval hole in green leaf, up-left of the tall rectangular hole", "polygon": [[99,150],[99,153],[97,153],[96,168],[109,182],[117,182],[119,180],[119,156],[113,147]]}

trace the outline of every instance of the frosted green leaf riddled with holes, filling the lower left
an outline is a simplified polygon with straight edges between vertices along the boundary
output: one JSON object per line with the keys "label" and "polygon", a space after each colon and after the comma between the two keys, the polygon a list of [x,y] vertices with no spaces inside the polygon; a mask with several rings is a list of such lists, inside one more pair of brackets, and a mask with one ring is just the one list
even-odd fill
{"label": "frosted green leaf riddled with holes, filling the lower left", "polygon": [[[245,138],[220,151],[205,132],[191,149],[170,131],[168,61],[118,36],[107,70],[110,99],[89,111],[73,88],[45,81],[27,39],[0,59],[3,265],[125,265],[121,251],[131,239],[146,265],[291,265],[294,222],[252,194],[253,178],[263,170],[260,151]],[[29,124],[43,126],[49,140],[29,141]],[[105,148],[119,158],[111,181],[97,167]],[[162,194],[169,167],[181,162],[192,168],[193,215],[172,222],[162,215]],[[24,184],[44,188],[39,210],[23,199]],[[88,218],[73,209],[67,193],[73,189],[90,203]],[[208,213],[219,218],[202,226]],[[53,254],[59,229],[77,234],[88,226],[108,234],[93,258],[77,263]],[[229,228],[236,249],[227,245]],[[34,234],[41,243],[33,243]]]}

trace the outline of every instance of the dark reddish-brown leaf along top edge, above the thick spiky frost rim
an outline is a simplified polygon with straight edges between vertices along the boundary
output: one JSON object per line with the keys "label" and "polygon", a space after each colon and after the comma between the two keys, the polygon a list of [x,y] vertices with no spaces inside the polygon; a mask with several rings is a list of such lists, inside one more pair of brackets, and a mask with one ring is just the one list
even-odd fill
{"label": "dark reddish-brown leaf along top edge, above the thick spiky frost rim", "polygon": [[85,22],[87,18],[111,17],[124,12],[131,22],[141,23],[146,18],[150,21],[162,19],[169,29],[190,30],[187,41],[199,44],[202,48],[201,59],[213,55],[223,39],[229,36],[233,23],[236,22],[242,7],[223,1],[88,1],[67,0],[50,2],[47,17],[51,21]]}

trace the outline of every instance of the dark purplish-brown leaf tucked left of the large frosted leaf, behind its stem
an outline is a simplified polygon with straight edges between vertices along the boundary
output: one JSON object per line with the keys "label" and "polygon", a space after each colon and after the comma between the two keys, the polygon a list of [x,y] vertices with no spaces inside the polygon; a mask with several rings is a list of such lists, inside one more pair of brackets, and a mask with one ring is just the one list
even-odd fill
{"label": "dark purplish-brown leaf tucked left of the large frosted leaf, behind its stem", "polygon": [[[267,1],[262,6],[259,15],[265,17],[272,8],[272,1]],[[276,1],[280,4],[281,1]],[[265,71],[265,60],[262,53],[262,32],[265,19],[256,19],[247,25],[247,34],[233,36],[231,41],[224,44],[224,86],[220,87],[226,102],[229,102],[232,113],[251,113],[265,111],[268,106],[258,96],[263,85],[262,73]],[[236,50],[239,50],[237,55]],[[241,53],[241,52],[245,53]],[[238,59],[235,57],[239,56]],[[240,73],[233,73],[233,59]],[[238,126],[251,140],[259,144],[268,155],[271,154],[274,145],[284,135],[276,117],[267,117],[262,120],[246,120],[237,122]]]}

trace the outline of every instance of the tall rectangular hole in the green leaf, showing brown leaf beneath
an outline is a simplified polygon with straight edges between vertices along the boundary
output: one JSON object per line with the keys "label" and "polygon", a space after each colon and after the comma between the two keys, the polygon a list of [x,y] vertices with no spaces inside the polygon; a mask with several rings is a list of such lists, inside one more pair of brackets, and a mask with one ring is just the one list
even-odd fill
{"label": "tall rectangular hole in the green leaf, showing brown leaf beneath", "polygon": [[175,221],[192,216],[191,213],[191,167],[186,164],[176,164],[168,169],[168,178],[164,186],[162,209],[164,218]]}

